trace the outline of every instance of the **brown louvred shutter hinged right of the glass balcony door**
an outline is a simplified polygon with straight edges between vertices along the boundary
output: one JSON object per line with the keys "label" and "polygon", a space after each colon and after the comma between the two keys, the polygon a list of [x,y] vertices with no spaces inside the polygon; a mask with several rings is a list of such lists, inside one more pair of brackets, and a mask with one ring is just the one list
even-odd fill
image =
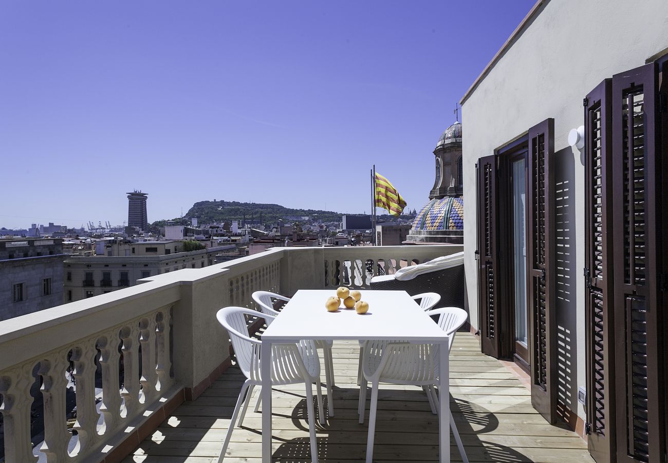
{"label": "brown louvred shutter hinged right of the glass balcony door", "polygon": [[531,321],[531,402],[556,421],[556,323],[554,322],[554,119],[528,132],[528,312]]}

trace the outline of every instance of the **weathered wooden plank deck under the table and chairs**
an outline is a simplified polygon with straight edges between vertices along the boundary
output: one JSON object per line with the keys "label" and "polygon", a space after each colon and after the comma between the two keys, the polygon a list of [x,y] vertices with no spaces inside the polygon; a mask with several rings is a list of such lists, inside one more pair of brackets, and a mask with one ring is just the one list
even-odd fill
{"label": "weathered wooden plank deck under the table and chairs", "polygon": [[[335,417],[318,424],[323,462],[365,458],[367,422],[357,423],[359,387],[356,342],[333,348]],[[322,378],[324,381],[324,370]],[[216,462],[244,377],[229,369],[195,401],[184,403],[128,462]],[[326,390],[323,386],[323,393]],[[259,394],[256,388],[254,395]],[[550,426],[531,406],[529,391],[506,367],[480,353],[466,333],[455,339],[450,357],[450,403],[471,462],[593,462],[587,444],[565,426]],[[303,385],[275,388],[273,461],[309,462],[309,427]],[[251,402],[255,405],[255,399]],[[327,399],[325,398],[325,405]],[[368,418],[367,401],[367,418]],[[315,407],[317,413],[317,407]],[[249,407],[244,428],[236,428],[226,463],[261,462],[261,414]],[[438,417],[418,387],[381,385],[374,448],[377,462],[430,462],[438,459]],[[452,460],[461,461],[454,440]]]}

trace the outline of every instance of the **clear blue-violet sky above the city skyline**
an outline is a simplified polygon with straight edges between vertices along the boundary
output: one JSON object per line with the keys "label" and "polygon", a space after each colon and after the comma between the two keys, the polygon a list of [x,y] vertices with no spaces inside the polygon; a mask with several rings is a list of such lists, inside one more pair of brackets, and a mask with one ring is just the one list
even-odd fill
{"label": "clear blue-violet sky above the city skyline", "polygon": [[533,3],[4,0],[0,226],[122,224],[132,189],[149,221],[214,198],[369,213],[373,164],[418,209]]}

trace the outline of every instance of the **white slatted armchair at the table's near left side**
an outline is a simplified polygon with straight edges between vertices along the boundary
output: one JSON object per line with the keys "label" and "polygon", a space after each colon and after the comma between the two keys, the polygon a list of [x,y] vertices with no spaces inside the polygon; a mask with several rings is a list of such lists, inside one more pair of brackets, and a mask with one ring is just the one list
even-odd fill
{"label": "white slatted armchair at the table's near left side", "polygon": [[[232,437],[232,430],[236,423],[241,403],[244,407],[241,411],[239,426],[241,426],[246,409],[248,408],[248,399],[253,393],[253,388],[262,384],[261,379],[261,349],[262,341],[248,337],[248,328],[246,327],[245,315],[256,315],[257,311],[243,307],[226,307],[218,310],[216,318],[230,335],[234,354],[238,362],[239,369],[246,377],[241,386],[239,397],[234,405],[234,412],[230,420],[230,427],[225,436],[225,442],[222,444],[222,450],[218,457],[218,463],[225,458],[227,446]],[[273,316],[266,315],[273,320]],[[269,321],[269,319],[267,319]],[[313,410],[313,389],[315,383],[318,397],[318,411],[320,413],[320,422],[324,424],[325,415],[323,413],[323,395],[320,386],[320,359],[313,341],[301,341],[299,344],[277,344],[272,345],[271,349],[271,383],[272,385],[286,385],[304,383],[306,386],[306,405],[309,418],[309,428],[311,436],[311,458],[314,462],[318,460],[318,449],[315,440],[315,413]],[[244,400],[244,393],[246,399]]]}

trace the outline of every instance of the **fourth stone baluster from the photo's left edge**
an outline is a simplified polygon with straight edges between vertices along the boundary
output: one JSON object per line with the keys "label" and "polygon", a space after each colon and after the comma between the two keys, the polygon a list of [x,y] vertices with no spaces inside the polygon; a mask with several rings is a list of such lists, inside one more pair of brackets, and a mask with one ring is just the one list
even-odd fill
{"label": "fourth stone baluster from the photo's left edge", "polygon": [[118,345],[121,341],[118,331],[108,331],[98,339],[100,349],[100,365],[102,366],[102,405],[100,411],[104,416],[104,434],[110,435],[120,425],[120,383],[118,381],[118,365],[120,353]]}

